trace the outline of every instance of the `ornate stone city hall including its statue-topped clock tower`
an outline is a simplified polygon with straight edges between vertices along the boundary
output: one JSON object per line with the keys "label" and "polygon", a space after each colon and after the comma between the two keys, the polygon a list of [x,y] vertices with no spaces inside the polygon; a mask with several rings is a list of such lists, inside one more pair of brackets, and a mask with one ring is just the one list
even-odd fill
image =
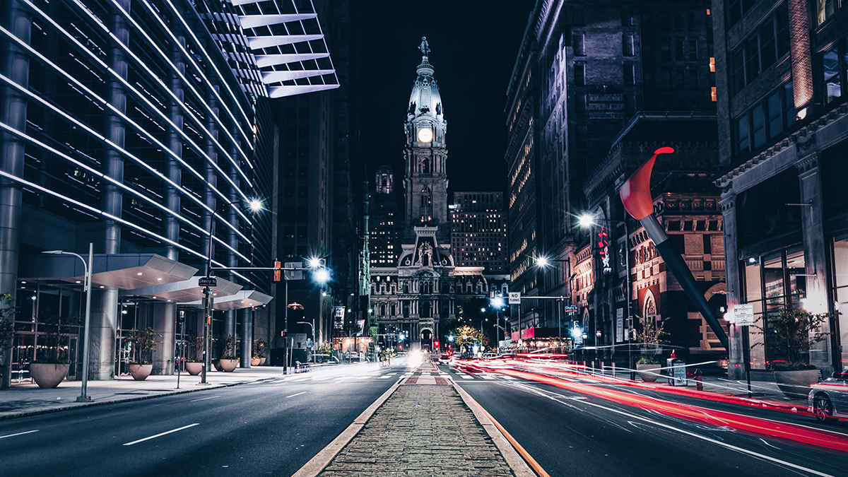
{"label": "ornate stone city hall including its statue-topped clock tower", "polygon": [[404,121],[405,216],[399,258],[370,268],[375,322],[382,330],[405,332],[411,346],[425,350],[448,331],[463,303],[486,298],[490,290],[508,292],[505,275],[484,274],[482,266],[459,267],[451,250],[448,121],[429,52],[424,39]]}

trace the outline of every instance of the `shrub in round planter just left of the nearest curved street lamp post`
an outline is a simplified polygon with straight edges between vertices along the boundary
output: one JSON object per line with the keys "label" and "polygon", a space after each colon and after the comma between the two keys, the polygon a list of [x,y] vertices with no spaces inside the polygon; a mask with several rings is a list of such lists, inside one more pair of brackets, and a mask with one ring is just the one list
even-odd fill
{"label": "shrub in round planter just left of the nearest curved street lamp post", "polygon": [[36,359],[30,362],[30,376],[39,388],[53,389],[62,382],[68,374],[67,342],[70,320],[60,316],[40,316],[38,329],[44,331],[39,336],[39,347],[43,349],[36,354]]}

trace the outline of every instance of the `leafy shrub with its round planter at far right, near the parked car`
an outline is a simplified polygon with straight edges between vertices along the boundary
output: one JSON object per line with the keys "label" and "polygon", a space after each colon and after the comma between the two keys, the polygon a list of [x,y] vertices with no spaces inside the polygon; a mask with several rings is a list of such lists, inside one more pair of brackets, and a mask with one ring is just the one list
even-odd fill
{"label": "leafy shrub with its round planter at far right, near the parked car", "polygon": [[[810,384],[818,382],[818,369],[808,362],[806,356],[809,356],[810,345],[828,339],[829,333],[822,331],[822,325],[838,315],[839,311],[811,313],[801,308],[783,308],[766,317],[767,329],[754,327],[759,330],[755,334],[768,334],[768,351],[774,358],[770,368],[778,388],[786,397],[806,399]],[[762,343],[752,347],[757,345]]]}

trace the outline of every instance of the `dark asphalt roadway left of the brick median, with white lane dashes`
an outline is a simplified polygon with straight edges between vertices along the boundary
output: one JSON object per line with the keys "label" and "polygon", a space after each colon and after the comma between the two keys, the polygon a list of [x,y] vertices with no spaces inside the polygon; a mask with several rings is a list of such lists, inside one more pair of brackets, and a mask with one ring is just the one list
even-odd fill
{"label": "dark asphalt roadway left of the brick median, with white lane dashes", "polygon": [[0,422],[0,475],[291,475],[405,371],[345,366]]}

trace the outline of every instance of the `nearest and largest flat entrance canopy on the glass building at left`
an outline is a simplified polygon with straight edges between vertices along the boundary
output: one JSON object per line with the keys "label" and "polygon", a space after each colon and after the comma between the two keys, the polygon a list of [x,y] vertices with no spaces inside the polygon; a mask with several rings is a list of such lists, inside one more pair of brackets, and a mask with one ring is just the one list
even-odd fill
{"label": "nearest and largest flat entrance canopy on the glass building at left", "polygon": [[[156,254],[96,254],[92,269],[95,289],[138,289],[180,282],[198,272],[195,267]],[[82,261],[74,255],[25,255],[18,267],[19,279],[33,283],[81,284],[85,273]]]}

